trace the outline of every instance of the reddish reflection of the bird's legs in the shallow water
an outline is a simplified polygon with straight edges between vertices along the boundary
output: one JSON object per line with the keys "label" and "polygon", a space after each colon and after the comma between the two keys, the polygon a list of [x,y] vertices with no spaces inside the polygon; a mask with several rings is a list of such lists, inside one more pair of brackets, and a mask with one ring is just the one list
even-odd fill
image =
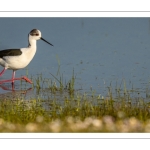
{"label": "reddish reflection of the bird's legs in the shallow water", "polygon": [[[13,99],[13,98],[20,98],[20,97],[26,97],[27,95],[30,95],[32,93],[32,88],[22,88],[19,85],[11,84],[11,83],[5,83],[5,84],[0,84],[0,88],[4,90],[5,92],[0,94],[0,99]],[[8,92],[7,92],[8,91]]]}

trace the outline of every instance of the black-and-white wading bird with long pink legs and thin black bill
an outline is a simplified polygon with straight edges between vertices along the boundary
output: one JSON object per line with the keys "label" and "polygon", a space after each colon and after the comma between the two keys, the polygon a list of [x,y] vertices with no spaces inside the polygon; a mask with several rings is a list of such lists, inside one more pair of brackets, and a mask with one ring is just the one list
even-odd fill
{"label": "black-and-white wading bird with long pink legs and thin black bill", "polygon": [[0,72],[0,76],[2,76],[7,69],[13,71],[12,78],[9,80],[0,80],[0,84],[5,82],[11,82],[14,84],[15,80],[25,80],[26,82],[32,84],[32,81],[26,76],[15,78],[15,73],[17,70],[25,68],[31,62],[36,53],[37,40],[43,40],[53,46],[53,44],[42,38],[40,30],[32,29],[28,34],[28,47],[0,50],[0,65],[4,67],[4,69]]}

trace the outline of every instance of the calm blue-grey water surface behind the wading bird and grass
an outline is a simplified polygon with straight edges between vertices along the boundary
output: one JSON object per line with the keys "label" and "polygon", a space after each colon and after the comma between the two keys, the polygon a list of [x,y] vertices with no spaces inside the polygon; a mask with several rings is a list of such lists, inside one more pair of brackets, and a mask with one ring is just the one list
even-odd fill
{"label": "calm blue-grey water surface behind the wading bird and grass", "polygon": [[[29,77],[42,73],[53,78],[50,73],[57,75],[59,60],[64,80],[71,79],[74,70],[76,89],[107,95],[107,87],[126,86],[143,97],[149,92],[150,18],[0,18],[0,26],[1,50],[26,47],[34,28],[54,45],[38,41],[34,59],[16,77],[28,69]],[[1,79],[11,76],[8,70]]]}

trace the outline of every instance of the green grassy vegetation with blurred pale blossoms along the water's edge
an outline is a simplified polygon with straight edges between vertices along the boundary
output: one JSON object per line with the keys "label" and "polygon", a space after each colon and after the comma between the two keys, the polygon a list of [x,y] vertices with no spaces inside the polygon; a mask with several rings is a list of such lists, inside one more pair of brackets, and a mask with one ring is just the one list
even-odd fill
{"label": "green grassy vegetation with blurred pale blossoms along the water's edge", "polygon": [[76,90],[74,71],[65,83],[51,76],[32,78],[34,98],[25,99],[25,90],[0,95],[0,132],[150,132],[150,103],[131,97],[125,82],[104,97]]}

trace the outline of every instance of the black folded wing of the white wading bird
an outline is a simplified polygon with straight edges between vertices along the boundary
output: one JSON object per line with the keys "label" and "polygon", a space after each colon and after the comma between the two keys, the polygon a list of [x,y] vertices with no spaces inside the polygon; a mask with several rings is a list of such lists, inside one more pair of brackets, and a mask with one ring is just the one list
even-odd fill
{"label": "black folded wing of the white wading bird", "polygon": [[4,56],[19,56],[22,54],[22,51],[20,49],[6,49],[0,51],[0,58],[3,58]]}

